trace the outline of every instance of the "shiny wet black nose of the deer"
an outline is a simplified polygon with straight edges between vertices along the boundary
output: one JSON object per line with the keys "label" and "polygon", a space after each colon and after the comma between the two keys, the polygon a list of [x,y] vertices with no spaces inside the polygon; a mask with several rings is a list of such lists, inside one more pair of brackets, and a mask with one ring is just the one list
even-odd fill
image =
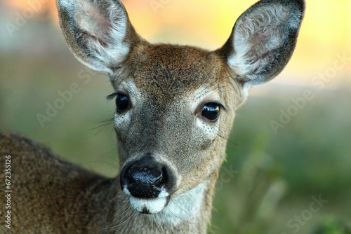
{"label": "shiny wet black nose of the deer", "polygon": [[175,184],[173,178],[171,170],[150,154],[124,165],[120,176],[121,188],[135,198],[157,198],[161,191],[170,193]]}

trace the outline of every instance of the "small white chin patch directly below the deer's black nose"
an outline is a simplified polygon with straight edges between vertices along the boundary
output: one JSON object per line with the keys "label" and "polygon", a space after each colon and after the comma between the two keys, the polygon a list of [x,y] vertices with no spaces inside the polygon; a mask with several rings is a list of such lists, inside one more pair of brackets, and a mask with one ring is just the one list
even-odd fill
{"label": "small white chin patch directly below the deer's black nose", "polygon": [[140,199],[129,196],[131,206],[140,213],[157,214],[167,205],[167,198]]}

